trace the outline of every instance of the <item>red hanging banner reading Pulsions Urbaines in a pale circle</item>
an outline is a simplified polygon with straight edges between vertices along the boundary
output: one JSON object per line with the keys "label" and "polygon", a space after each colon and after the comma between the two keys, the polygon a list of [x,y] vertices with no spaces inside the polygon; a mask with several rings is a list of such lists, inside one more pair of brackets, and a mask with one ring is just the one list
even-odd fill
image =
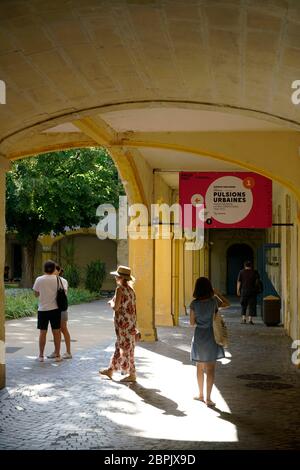
{"label": "red hanging banner reading Pulsions Urbaines in a pale circle", "polygon": [[272,180],[256,173],[181,172],[179,199],[183,214],[184,205],[192,205],[192,217],[183,215],[184,227],[196,227],[196,217],[205,228],[272,226]]}

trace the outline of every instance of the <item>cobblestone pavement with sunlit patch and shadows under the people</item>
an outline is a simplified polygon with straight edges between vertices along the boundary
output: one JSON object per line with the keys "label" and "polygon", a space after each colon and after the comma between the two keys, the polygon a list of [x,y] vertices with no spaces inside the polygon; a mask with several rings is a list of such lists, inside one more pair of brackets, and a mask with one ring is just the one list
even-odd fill
{"label": "cobblestone pavement with sunlit patch and shadows under the people", "polygon": [[[7,354],[0,449],[300,449],[300,371],[291,363],[291,340],[282,328],[259,319],[254,326],[240,325],[235,307],[226,312],[231,346],[217,367],[217,408],[208,409],[193,400],[186,317],[180,327],[159,328],[157,343],[140,343],[138,383],[122,385],[120,377],[110,381],[98,374],[112,350],[105,304],[80,309],[72,360],[41,364],[28,349],[26,355]],[[85,339],[83,348],[85,311],[99,340]],[[12,339],[10,347],[18,347],[20,339]]]}

